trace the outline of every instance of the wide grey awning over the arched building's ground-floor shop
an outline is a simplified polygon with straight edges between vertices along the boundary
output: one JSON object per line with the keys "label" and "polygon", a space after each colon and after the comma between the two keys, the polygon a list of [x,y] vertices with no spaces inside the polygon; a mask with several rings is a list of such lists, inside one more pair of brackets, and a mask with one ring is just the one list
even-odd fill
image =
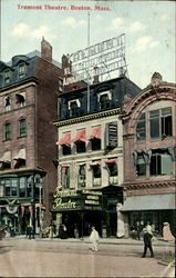
{"label": "wide grey awning over the arched building's ground-floor shop", "polygon": [[148,195],[126,198],[121,211],[175,209],[175,195]]}

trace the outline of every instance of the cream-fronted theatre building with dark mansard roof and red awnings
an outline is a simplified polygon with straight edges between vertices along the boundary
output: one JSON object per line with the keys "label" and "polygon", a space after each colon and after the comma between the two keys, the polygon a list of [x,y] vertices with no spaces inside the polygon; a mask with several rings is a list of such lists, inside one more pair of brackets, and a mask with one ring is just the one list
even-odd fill
{"label": "cream-fronted theatre building with dark mansard roof and red awnings", "polygon": [[86,236],[92,226],[104,237],[116,237],[124,232],[118,216],[124,181],[120,115],[125,96],[135,97],[139,88],[122,75],[89,89],[62,93],[58,100],[59,180],[51,211],[69,237],[75,227],[80,237]]}

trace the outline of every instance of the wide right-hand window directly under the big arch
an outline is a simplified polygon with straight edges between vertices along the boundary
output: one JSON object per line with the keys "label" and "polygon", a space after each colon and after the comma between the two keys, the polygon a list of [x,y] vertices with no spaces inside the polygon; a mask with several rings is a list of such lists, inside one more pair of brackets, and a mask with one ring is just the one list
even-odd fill
{"label": "wide right-hand window directly under the big arch", "polygon": [[151,139],[165,139],[173,136],[172,108],[163,108],[149,112]]}

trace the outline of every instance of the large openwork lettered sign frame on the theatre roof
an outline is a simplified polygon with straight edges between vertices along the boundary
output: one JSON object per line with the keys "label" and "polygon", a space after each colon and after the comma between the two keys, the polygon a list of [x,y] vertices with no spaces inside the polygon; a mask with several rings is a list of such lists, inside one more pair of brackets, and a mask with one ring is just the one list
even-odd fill
{"label": "large openwork lettered sign frame on the theatre roof", "polygon": [[125,34],[114,37],[69,56],[72,75],[77,80],[92,81],[94,76],[104,76],[126,68]]}

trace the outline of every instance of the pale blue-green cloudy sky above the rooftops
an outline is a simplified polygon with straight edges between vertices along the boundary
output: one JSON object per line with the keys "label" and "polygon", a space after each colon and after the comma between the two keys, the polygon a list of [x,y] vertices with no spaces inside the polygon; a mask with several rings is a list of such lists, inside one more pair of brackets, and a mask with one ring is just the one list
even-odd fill
{"label": "pale blue-green cloudy sky above the rooftops", "polygon": [[[90,44],[125,33],[128,78],[142,89],[155,71],[164,81],[175,82],[175,1],[1,0],[0,60],[8,62],[15,54],[40,51],[42,37],[51,43],[53,59],[59,62],[63,54],[86,48],[89,12],[71,10],[71,6],[91,7]],[[94,10],[95,6],[106,10]]]}

